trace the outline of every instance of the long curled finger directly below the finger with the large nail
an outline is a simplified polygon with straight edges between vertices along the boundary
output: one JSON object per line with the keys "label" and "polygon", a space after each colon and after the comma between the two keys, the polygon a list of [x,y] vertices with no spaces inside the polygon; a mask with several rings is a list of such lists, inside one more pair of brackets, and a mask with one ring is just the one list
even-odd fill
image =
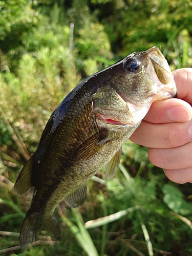
{"label": "long curled finger directly below the finger with the large nail", "polygon": [[192,122],[152,124],[142,121],[130,140],[147,147],[178,147],[192,140]]}

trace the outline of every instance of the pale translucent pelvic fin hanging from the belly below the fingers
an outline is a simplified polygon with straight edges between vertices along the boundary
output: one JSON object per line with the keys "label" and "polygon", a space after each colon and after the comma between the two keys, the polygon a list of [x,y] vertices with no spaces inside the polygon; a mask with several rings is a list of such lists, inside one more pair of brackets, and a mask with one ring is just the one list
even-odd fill
{"label": "pale translucent pelvic fin hanging from the belly below the fingers", "polygon": [[115,171],[119,167],[119,163],[121,160],[121,151],[122,148],[119,148],[115,156],[112,157],[112,159],[109,161],[109,163],[106,165],[106,179],[109,180],[112,178],[115,174]]}

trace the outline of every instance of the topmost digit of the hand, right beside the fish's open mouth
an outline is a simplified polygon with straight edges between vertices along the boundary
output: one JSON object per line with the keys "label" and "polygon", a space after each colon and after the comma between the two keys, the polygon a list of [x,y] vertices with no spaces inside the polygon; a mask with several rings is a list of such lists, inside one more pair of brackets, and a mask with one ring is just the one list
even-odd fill
{"label": "topmost digit of the hand, right beside the fish's open mouth", "polygon": [[192,68],[172,72],[177,87],[177,98],[192,104]]}

